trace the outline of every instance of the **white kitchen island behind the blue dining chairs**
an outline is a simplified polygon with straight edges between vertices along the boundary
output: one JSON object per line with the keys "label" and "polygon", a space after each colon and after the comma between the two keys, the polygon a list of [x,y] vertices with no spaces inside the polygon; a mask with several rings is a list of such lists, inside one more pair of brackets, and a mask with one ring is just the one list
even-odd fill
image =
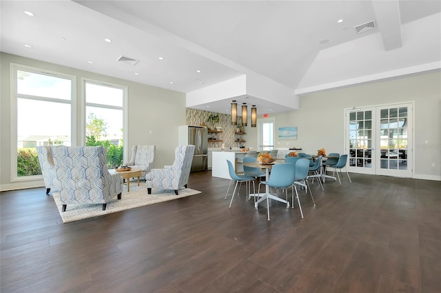
{"label": "white kitchen island behind the blue dining chairs", "polygon": [[242,163],[236,163],[236,159],[243,158],[246,154],[247,152],[241,152],[240,150],[213,151],[212,176],[231,179],[229,176],[227,160],[232,162],[236,173],[242,173],[243,165]]}

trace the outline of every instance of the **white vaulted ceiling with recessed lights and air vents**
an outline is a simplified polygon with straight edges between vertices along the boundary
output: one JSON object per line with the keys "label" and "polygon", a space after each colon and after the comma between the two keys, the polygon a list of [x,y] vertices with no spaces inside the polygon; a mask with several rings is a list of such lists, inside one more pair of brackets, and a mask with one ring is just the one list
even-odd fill
{"label": "white vaulted ceiling with recessed lights and air vents", "polygon": [[[441,1],[0,3],[2,52],[178,92],[259,74],[294,97],[441,67]],[[357,34],[353,27],[368,21],[376,28]],[[245,101],[260,112],[287,110],[258,94],[238,104]],[[229,103],[193,108],[225,112]]]}

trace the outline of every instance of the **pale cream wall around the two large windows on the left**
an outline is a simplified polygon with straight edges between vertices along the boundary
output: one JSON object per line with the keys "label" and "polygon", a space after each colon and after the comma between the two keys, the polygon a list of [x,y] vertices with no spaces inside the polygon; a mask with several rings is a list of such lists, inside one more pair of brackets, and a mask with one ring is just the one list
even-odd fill
{"label": "pale cream wall around the two large windows on the left", "polygon": [[[155,167],[171,165],[174,161],[174,148],[178,143],[178,125],[185,124],[185,94],[156,88],[150,85],[125,81],[94,74],[61,65],[0,54],[1,103],[0,103],[0,190],[31,188],[43,186],[43,181],[12,182],[10,174],[10,63],[28,65],[76,76],[77,93],[81,93],[81,77],[128,87],[128,141],[126,152],[132,145],[156,145]],[[50,115],[44,109],[36,109],[42,115]],[[151,130],[151,133],[150,133]],[[127,154],[130,156],[130,153]],[[126,156],[127,156],[126,155]],[[126,157],[125,156],[125,157]]]}

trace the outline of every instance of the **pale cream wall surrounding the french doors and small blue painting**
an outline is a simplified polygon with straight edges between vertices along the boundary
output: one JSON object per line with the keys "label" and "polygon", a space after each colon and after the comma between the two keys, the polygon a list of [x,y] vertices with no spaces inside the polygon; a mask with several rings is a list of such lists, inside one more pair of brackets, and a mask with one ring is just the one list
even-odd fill
{"label": "pale cream wall surrounding the french doors and small blue painting", "polygon": [[[441,73],[440,71],[379,81],[348,88],[305,94],[300,110],[269,114],[276,119],[276,147],[296,145],[304,152],[344,151],[344,112],[347,108],[415,101],[414,178],[441,180]],[[259,117],[261,118],[261,117]],[[298,139],[278,141],[279,127],[298,126]],[[247,132],[247,140],[255,132]],[[426,145],[425,141],[429,141]],[[435,167],[431,167],[435,163]]]}

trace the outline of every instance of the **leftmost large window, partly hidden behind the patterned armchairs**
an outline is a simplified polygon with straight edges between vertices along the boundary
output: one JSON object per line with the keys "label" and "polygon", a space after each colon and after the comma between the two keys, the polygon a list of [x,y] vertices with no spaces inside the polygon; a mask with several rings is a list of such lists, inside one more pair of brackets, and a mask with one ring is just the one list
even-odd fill
{"label": "leftmost large window, partly hidden behind the patterned armchairs", "polygon": [[[17,108],[16,178],[41,174],[37,145],[71,145],[74,79],[14,67]],[[14,168],[15,167],[15,168]],[[15,177],[15,176],[14,176]]]}

